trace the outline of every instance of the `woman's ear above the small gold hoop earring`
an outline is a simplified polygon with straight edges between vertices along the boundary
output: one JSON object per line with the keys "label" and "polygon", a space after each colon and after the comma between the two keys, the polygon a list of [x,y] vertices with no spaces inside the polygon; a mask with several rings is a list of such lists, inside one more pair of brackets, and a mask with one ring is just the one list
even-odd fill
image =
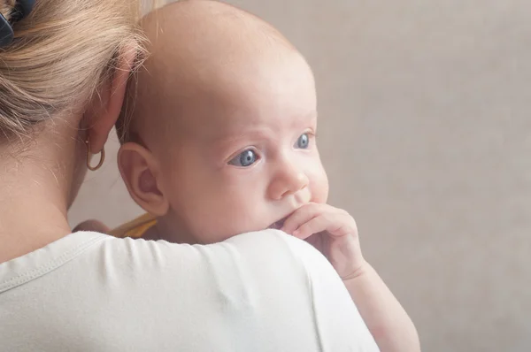
{"label": "woman's ear above the small gold hoop earring", "polygon": [[135,65],[136,55],[134,47],[124,50],[119,55],[112,78],[104,82],[98,95],[89,103],[84,113],[84,123],[87,125],[87,137],[90,142],[89,148],[93,154],[104,149],[112,126],[116,124],[116,120],[119,118],[126,95],[127,80]]}

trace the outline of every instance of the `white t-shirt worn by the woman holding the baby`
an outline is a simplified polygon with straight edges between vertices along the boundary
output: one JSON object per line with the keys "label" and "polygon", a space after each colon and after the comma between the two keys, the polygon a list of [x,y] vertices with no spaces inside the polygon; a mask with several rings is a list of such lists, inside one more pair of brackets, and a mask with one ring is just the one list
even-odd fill
{"label": "white t-shirt worn by the woman holding the baby", "polygon": [[73,233],[0,264],[1,351],[377,351],[327,259],[284,233],[208,246]]}

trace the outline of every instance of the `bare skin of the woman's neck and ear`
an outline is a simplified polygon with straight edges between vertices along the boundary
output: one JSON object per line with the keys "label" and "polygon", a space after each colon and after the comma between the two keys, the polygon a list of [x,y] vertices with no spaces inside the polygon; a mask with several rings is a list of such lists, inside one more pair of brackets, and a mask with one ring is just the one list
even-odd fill
{"label": "bare skin of the woman's neck and ear", "polygon": [[29,141],[0,144],[0,263],[72,233],[66,213],[87,172],[87,146],[99,151],[119,117],[134,50],[125,50],[97,99],[42,122]]}

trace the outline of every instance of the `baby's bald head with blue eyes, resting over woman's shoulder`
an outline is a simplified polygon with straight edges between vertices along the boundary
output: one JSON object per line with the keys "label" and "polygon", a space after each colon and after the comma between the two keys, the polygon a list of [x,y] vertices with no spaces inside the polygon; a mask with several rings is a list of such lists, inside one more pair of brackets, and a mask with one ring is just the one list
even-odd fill
{"label": "baby's bald head with blue eyes, resting over woman's shoulder", "polygon": [[119,121],[119,169],[166,240],[223,241],[327,201],[312,71],[278,31],[212,1],[143,27],[151,55]]}

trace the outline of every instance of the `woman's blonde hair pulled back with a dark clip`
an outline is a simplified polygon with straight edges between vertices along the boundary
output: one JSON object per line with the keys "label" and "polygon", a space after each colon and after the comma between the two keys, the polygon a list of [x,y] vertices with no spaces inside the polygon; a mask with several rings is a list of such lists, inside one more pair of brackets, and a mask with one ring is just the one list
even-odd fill
{"label": "woman's blonde hair pulled back with a dark clip", "polygon": [[[0,0],[5,19],[14,0]],[[140,0],[38,0],[0,48],[0,143],[89,102],[127,48],[142,59]]]}

